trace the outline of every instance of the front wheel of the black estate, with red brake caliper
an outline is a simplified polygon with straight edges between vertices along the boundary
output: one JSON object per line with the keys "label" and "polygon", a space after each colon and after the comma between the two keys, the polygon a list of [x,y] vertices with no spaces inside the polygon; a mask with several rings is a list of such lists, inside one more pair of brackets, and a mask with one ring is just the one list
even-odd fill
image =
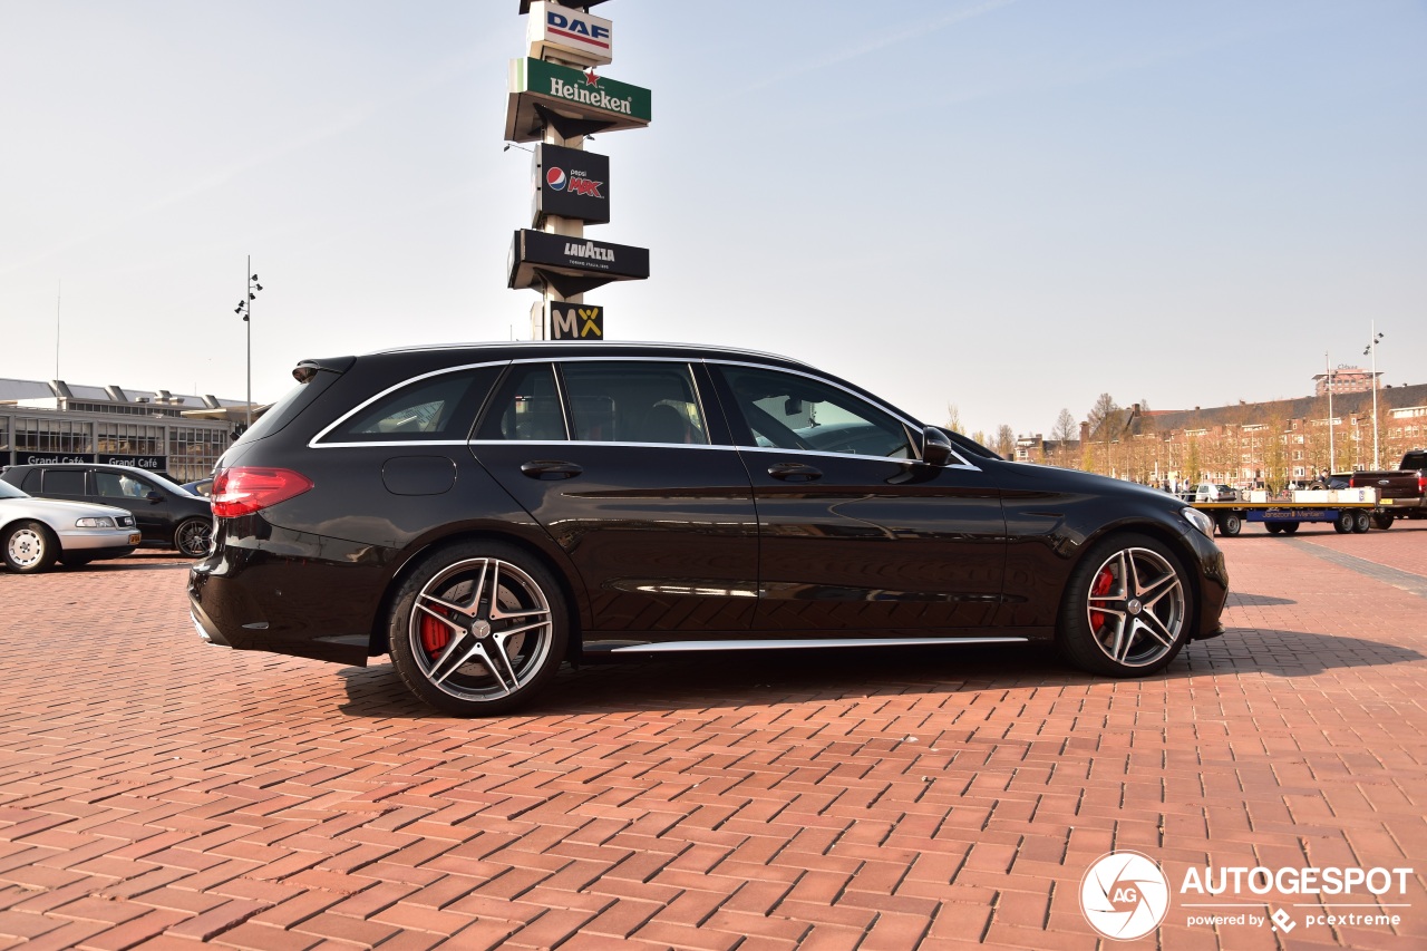
{"label": "front wheel of the black estate, with red brake caliper", "polygon": [[1080,670],[1144,677],[1179,655],[1192,623],[1180,560],[1147,535],[1113,535],[1092,545],[1070,573],[1056,643]]}

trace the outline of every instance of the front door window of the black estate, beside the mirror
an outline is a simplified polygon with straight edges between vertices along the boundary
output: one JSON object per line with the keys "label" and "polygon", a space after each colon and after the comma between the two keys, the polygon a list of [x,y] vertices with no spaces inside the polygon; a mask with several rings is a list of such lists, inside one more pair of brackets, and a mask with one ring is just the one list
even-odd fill
{"label": "front door window of the black estate, beside the mirror", "polygon": [[748,424],[743,446],[912,457],[906,427],[846,390],[775,370],[722,371]]}

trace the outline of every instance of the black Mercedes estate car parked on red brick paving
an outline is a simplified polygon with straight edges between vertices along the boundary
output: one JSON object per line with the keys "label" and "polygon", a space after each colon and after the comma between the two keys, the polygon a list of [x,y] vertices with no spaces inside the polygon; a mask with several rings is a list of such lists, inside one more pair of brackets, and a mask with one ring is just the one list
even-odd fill
{"label": "black Mercedes estate car parked on red brick paving", "polygon": [[1223,631],[1166,493],[1010,463],[768,354],[537,343],[305,360],[220,460],[200,634],[504,713],[596,651],[1055,641],[1130,677]]}

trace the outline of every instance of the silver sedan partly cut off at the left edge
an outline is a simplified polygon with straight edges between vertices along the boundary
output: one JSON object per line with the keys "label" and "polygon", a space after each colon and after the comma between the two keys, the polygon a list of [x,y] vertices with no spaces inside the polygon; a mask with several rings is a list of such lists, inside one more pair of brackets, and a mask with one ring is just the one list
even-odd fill
{"label": "silver sedan partly cut off at the left edge", "polygon": [[44,571],[118,558],[138,547],[134,517],[123,508],[34,498],[0,481],[0,558],[10,571]]}

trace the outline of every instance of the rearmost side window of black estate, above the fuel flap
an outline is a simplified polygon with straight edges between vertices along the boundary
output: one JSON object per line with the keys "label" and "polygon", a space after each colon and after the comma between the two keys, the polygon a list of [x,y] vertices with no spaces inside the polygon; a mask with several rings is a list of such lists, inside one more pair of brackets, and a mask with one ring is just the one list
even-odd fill
{"label": "rearmost side window of black estate, above the fuel flap", "polygon": [[498,371],[478,367],[417,380],[378,398],[323,441],[464,440]]}

